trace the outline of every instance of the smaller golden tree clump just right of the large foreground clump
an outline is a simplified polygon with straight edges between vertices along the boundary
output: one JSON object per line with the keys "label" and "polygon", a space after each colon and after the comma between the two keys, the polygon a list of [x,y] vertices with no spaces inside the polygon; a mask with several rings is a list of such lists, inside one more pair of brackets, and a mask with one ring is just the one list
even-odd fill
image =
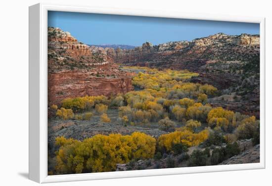
{"label": "smaller golden tree clump just right of the large foreground clump", "polygon": [[190,130],[181,128],[180,131],[176,130],[175,132],[161,135],[158,139],[158,145],[160,148],[171,151],[174,144],[192,147],[204,142],[208,137],[209,131],[207,129],[199,133],[193,133]]}

